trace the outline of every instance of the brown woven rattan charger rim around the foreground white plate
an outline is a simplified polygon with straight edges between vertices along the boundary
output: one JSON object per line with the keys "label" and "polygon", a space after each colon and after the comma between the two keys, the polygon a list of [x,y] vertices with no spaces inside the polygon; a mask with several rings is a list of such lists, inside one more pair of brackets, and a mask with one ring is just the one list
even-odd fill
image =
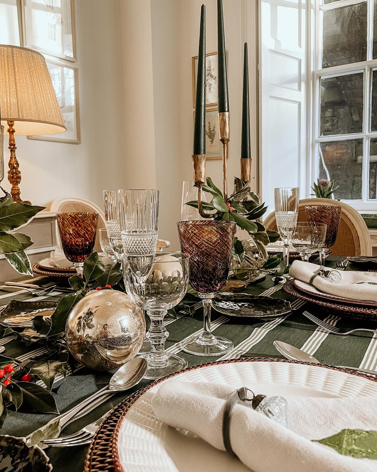
{"label": "brown woven rattan charger rim around the foreground white plate", "polygon": [[[224,361],[215,361],[215,362],[208,362],[205,364],[199,364],[194,367],[188,367],[183,371],[175,372],[172,375],[167,377],[163,377],[162,379],[158,379],[155,382],[151,383],[145,388],[140,389],[139,391],[133,393],[129,397],[127,397],[123,402],[116,405],[110,413],[108,413],[107,417],[101,424],[101,426],[96,431],[94,435],[88,453],[85,458],[85,467],[84,472],[123,472],[121,464],[119,462],[119,457],[117,454],[117,442],[118,442],[118,435],[120,430],[120,425],[122,423],[123,417],[131,408],[131,406],[135,403],[135,401],[142,396],[147,390],[153,388],[158,383],[174,377],[182,372],[193,371],[195,369],[200,369],[202,367],[213,366],[213,365],[220,365],[220,364],[229,364],[235,362],[285,362],[291,364],[303,364],[303,365],[313,365],[311,362],[300,362],[300,361],[288,361],[287,359],[275,359],[275,358],[246,358],[246,359],[229,359]],[[348,374],[356,375],[358,377],[362,377],[364,379],[373,380],[377,382],[377,379],[371,377],[366,374],[362,374],[355,371],[350,371],[348,369],[344,369],[342,367],[334,367],[322,364],[316,364],[316,367],[322,367],[325,369],[332,369],[335,371],[341,371]]]}

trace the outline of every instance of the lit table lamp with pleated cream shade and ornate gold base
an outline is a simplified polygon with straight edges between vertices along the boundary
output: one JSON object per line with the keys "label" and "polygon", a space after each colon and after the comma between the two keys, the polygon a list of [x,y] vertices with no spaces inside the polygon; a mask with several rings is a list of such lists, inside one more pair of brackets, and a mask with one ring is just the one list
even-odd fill
{"label": "lit table lamp with pleated cream shade and ornate gold base", "polygon": [[8,128],[9,133],[10,193],[14,202],[30,204],[20,198],[21,172],[14,135],[54,135],[66,131],[46,61],[41,54],[0,44],[0,103],[1,125]]}

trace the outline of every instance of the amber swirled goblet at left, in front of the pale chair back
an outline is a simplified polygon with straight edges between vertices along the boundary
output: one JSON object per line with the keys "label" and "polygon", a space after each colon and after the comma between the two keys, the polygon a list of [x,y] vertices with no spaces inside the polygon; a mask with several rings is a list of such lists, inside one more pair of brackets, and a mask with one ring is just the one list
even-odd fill
{"label": "amber swirled goblet at left, in front of the pale chair back", "polygon": [[64,254],[82,277],[84,261],[94,249],[98,213],[57,213],[56,219]]}

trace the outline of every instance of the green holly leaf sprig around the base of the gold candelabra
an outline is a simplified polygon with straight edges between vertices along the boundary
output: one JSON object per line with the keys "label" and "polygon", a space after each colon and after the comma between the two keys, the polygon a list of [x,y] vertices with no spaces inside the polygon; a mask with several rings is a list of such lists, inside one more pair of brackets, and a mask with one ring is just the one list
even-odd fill
{"label": "green holly leaf sprig around the base of the gold candelabra", "polygon": [[[212,179],[207,177],[203,191],[213,196],[211,202],[204,202],[205,211],[213,211],[215,220],[235,221],[239,228],[245,229],[254,240],[259,251],[265,259],[267,252],[265,245],[278,241],[279,233],[269,231],[256,221],[267,211],[264,202],[261,203],[258,196],[251,191],[251,182],[244,182],[238,177],[234,177],[234,190],[227,201],[224,200],[221,191],[213,184]],[[197,200],[186,202],[186,205],[194,208],[198,207]],[[241,241],[239,244],[242,245]]]}

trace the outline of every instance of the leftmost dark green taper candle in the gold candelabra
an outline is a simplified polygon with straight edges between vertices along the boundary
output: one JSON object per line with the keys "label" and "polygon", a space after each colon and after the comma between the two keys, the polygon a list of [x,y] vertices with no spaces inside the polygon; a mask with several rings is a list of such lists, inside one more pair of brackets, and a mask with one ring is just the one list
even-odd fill
{"label": "leftmost dark green taper candle in the gold candelabra", "polygon": [[205,154],[205,6],[200,16],[193,155]]}

